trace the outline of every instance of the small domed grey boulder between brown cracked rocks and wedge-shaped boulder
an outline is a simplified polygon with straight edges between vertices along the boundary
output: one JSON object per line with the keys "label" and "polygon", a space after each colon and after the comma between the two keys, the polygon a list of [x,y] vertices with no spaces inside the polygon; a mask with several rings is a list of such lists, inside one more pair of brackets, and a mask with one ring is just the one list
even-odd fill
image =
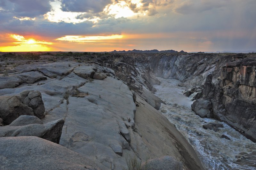
{"label": "small domed grey boulder between brown cracked rocks and wedge-shaped boulder", "polygon": [[20,115],[8,126],[25,126],[30,124],[43,124],[43,122],[36,116]]}

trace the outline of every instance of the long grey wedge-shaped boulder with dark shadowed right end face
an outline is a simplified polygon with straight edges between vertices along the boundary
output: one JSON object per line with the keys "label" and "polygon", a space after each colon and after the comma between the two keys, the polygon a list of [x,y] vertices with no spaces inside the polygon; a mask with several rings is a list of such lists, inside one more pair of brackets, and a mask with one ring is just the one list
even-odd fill
{"label": "long grey wedge-shaped boulder with dark shadowed right end face", "polygon": [[25,126],[0,127],[0,137],[8,136],[37,136],[48,141],[59,143],[64,124],[63,119],[46,124],[28,124]]}

